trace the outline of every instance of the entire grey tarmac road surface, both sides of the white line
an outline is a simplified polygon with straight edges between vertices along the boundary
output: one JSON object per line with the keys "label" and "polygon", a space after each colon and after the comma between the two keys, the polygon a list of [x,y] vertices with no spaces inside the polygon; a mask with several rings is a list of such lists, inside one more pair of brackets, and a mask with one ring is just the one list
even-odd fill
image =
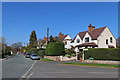
{"label": "entire grey tarmac road surface, both sides of the white line", "polygon": [[118,78],[118,69],[61,65],[63,62],[36,61],[18,54],[3,60],[3,78]]}

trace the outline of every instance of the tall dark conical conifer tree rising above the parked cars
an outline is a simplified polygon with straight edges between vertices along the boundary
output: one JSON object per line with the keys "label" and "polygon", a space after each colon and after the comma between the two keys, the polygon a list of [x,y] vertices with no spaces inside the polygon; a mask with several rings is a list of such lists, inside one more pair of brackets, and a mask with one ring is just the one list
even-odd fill
{"label": "tall dark conical conifer tree rising above the parked cars", "polygon": [[30,45],[29,45],[30,48],[36,48],[37,47],[37,36],[36,36],[35,30],[33,30],[31,32],[29,41],[30,41]]}

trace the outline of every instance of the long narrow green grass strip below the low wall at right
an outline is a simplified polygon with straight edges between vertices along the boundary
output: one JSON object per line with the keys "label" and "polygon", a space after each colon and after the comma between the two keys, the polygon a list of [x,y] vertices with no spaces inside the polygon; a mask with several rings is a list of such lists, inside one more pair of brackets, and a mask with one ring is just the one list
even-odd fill
{"label": "long narrow green grass strip below the low wall at right", "polygon": [[87,63],[63,63],[67,65],[79,65],[79,66],[93,66],[93,67],[113,67],[120,68],[120,65],[109,65],[109,64],[87,64]]}

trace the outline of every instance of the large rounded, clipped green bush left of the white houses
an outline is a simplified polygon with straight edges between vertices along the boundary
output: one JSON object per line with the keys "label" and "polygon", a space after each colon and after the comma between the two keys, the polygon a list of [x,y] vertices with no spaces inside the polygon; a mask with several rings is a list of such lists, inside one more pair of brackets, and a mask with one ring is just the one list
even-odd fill
{"label": "large rounded, clipped green bush left of the white houses", "polygon": [[64,55],[64,43],[50,42],[45,49],[46,56],[60,56]]}

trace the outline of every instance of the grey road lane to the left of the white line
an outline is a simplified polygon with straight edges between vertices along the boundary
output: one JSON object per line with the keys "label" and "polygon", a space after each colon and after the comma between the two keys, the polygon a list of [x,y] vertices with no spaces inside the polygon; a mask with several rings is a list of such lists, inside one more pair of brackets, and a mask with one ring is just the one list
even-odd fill
{"label": "grey road lane to the left of the white line", "polygon": [[22,54],[2,61],[2,78],[20,78],[34,63],[33,60],[26,59]]}

